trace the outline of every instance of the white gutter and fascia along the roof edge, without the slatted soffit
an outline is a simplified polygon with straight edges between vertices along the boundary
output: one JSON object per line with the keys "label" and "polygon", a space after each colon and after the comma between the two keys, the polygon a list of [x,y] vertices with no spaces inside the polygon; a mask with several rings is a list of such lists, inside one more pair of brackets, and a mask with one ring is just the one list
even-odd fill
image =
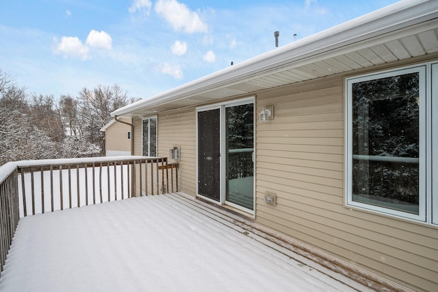
{"label": "white gutter and fascia along the roof edge, without the slatted soffit", "polygon": [[[149,99],[137,101],[111,113],[114,117],[136,117],[140,110],[207,93],[225,86],[270,75],[288,67],[355,51],[370,42],[399,38],[409,28],[438,19],[438,1],[400,1],[357,19],[279,47],[255,58],[206,75]],[[412,32],[409,32],[412,33]],[[397,35],[400,34],[400,35]]]}

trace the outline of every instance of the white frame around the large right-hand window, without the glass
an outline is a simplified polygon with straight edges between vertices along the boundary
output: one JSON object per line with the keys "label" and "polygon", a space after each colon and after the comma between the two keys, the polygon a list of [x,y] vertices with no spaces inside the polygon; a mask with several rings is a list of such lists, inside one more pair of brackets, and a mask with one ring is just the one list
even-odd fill
{"label": "white frame around the large right-hand window, without the glass", "polygon": [[[438,71],[438,70],[437,70]],[[419,214],[411,214],[409,212],[403,212],[400,210],[394,210],[391,208],[385,208],[382,206],[374,206],[362,202],[355,202],[352,199],[352,84],[357,82],[364,82],[368,80],[377,80],[385,77],[392,77],[396,75],[403,75],[408,73],[419,73],[419,85],[420,85],[420,112],[419,112],[419,138],[420,138],[420,158],[419,158]],[[346,195],[345,204],[348,208],[357,208],[361,210],[368,210],[371,212],[377,212],[392,217],[398,217],[402,219],[408,219],[412,221],[419,221],[423,223],[431,223],[430,209],[428,206],[431,204],[431,192],[430,192],[430,161],[427,157],[430,157],[430,135],[428,134],[428,128],[426,125],[430,125],[431,110],[426,114],[426,108],[430,109],[430,106],[426,102],[430,101],[430,64],[421,64],[402,69],[394,69],[391,71],[381,71],[378,73],[372,73],[368,75],[361,75],[357,77],[351,77],[346,79]],[[438,114],[438,112],[437,112]],[[429,123],[428,123],[429,121]],[[436,123],[437,121],[435,121]],[[435,135],[436,136],[436,135]],[[436,137],[435,137],[436,138]],[[436,162],[435,162],[436,164]],[[437,197],[438,199],[438,197]],[[436,204],[435,204],[436,205]],[[437,208],[438,209],[438,208]],[[427,211],[426,211],[427,210]],[[438,210],[437,210],[438,211]],[[438,216],[438,215],[437,215]],[[437,217],[436,216],[436,217]],[[438,220],[437,220],[438,221]]]}

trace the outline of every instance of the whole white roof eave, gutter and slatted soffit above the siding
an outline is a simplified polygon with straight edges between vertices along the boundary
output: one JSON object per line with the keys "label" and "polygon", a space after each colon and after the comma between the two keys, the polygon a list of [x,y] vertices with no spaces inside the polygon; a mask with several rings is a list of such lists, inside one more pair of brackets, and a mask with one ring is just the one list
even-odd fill
{"label": "whole white roof eave, gutter and slatted soffit above the siding", "polygon": [[438,1],[400,1],[112,112],[139,117],[438,51]]}

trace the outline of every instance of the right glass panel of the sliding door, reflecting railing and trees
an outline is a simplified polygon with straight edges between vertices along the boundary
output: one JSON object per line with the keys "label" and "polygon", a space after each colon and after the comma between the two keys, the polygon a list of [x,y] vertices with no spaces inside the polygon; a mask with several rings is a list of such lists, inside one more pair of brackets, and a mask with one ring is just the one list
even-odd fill
{"label": "right glass panel of the sliding door, reflecting railing and trees", "polygon": [[225,200],[254,208],[254,105],[225,108]]}

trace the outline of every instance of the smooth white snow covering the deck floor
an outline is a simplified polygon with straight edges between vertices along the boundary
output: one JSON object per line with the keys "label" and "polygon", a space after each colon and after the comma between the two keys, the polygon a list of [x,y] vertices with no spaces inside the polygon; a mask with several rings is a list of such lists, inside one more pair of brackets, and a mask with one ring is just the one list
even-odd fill
{"label": "smooth white snow covering the deck floor", "polygon": [[22,218],[0,291],[352,289],[159,195]]}

